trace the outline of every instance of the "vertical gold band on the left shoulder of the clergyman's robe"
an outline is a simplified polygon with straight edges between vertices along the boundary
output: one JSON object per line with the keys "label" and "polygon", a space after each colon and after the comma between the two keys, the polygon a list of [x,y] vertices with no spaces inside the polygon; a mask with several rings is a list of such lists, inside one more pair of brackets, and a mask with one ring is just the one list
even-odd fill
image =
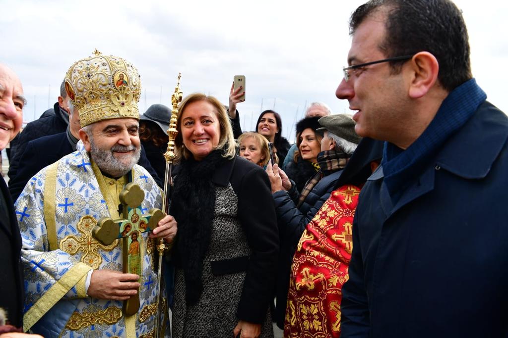
{"label": "vertical gold band on the left shoulder of the clergyman's robe", "polygon": [[49,251],[58,248],[56,240],[56,209],[55,209],[55,196],[56,196],[56,169],[58,162],[51,164],[46,169],[46,179],[44,181],[44,220],[46,222],[46,229],[48,234]]}

